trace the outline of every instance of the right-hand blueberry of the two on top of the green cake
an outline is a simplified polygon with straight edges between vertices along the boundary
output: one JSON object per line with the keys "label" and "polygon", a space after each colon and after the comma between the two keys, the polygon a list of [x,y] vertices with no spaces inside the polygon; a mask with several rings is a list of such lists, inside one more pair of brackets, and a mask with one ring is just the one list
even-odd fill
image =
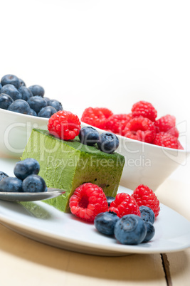
{"label": "right-hand blueberry of the two on top of the green cake", "polygon": [[100,134],[100,141],[97,142],[97,147],[105,153],[113,153],[119,146],[119,139],[110,132]]}

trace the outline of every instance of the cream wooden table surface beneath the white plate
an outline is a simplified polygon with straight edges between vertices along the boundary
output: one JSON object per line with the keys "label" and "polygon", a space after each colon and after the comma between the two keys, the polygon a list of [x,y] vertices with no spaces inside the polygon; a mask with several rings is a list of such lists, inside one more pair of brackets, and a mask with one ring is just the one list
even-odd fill
{"label": "cream wooden table surface beneath the white plate", "polygon": [[[185,166],[179,166],[157,189],[157,196],[190,220],[189,166],[190,160]],[[100,257],[38,243],[1,225],[0,242],[2,286],[189,286],[190,248],[178,253]],[[162,260],[167,267],[165,271]]]}

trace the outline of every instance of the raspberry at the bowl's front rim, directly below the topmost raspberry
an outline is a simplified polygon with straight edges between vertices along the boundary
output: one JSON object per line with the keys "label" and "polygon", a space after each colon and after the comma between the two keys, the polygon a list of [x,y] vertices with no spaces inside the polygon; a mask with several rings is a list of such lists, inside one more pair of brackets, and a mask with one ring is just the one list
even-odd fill
{"label": "raspberry at the bowl's front rim, directly below the topmost raspberry", "polygon": [[148,118],[134,117],[127,123],[122,135],[142,142],[152,143],[156,131],[154,123]]}

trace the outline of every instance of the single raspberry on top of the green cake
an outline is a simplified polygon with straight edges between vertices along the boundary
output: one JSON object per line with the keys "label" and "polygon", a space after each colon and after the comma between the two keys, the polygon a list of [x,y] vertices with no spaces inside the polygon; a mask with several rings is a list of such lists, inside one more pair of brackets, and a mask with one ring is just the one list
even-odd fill
{"label": "single raspberry on top of the green cake", "polygon": [[80,120],[77,115],[65,110],[54,113],[48,120],[50,134],[64,140],[74,139],[80,132]]}

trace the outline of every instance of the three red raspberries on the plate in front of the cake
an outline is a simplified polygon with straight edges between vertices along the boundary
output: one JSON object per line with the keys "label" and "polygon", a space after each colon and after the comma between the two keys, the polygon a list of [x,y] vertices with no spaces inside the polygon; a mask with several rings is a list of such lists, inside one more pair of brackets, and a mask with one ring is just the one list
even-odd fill
{"label": "three red raspberries on the plate in front of the cake", "polygon": [[[112,198],[111,203],[108,203]],[[94,221],[97,213],[110,211],[119,218],[128,214],[141,216],[140,206],[151,208],[155,217],[159,215],[159,200],[148,186],[139,185],[132,196],[119,193],[115,198],[106,197],[102,188],[95,184],[85,183],[75,189],[69,201],[70,211],[85,221]]]}

